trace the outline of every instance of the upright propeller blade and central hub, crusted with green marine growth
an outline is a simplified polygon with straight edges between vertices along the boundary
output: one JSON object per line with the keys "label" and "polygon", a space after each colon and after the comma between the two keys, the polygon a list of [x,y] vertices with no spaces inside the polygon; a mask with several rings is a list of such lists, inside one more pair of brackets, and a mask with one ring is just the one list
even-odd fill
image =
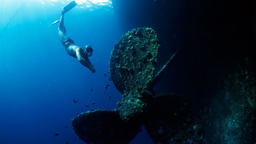
{"label": "upright propeller blade and central hub, crusted with green marine growth", "polygon": [[126,33],[114,46],[110,57],[110,74],[123,95],[120,116],[127,121],[146,110],[142,93],[154,79],[160,47],[156,32],[137,28]]}

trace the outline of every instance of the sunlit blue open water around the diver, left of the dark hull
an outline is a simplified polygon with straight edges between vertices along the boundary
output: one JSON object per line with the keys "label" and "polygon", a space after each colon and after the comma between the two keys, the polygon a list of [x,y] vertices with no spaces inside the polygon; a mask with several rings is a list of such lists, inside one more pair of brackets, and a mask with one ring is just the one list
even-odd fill
{"label": "sunlit blue open water around the diver, left of the dark hull", "polygon": [[[116,103],[121,101],[121,94],[108,80],[109,57],[123,34],[119,32],[111,2],[86,5],[80,1],[64,18],[67,35],[75,44],[92,46],[90,61],[96,73],[67,54],[58,39],[57,25],[47,27],[60,17],[69,2],[0,1],[1,144],[84,143],[73,132],[71,119],[91,109],[118,108]],[[110,85],[108,89],[106,84]],[[54,136],[56,133],[59,136]],[[131,143],[142,142],[152,142],[145,129]]]}

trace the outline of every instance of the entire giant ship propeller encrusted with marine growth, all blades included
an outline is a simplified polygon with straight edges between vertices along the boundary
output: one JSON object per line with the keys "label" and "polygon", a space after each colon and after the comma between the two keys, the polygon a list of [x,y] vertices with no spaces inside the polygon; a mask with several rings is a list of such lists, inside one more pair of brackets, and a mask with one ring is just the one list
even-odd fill
{"label": "entire giant ship propeller encrusted with marine growth, all blades included", "polygon": [[181,95],[150,91],[170,67],[154,76],[159,41],[151,28],[134,29],[119,40],[110,57],[110,74],[122,94],[119,110],[96,110],[72,119],[87,143],[129,143],[144,125],[154,143],[202,143],[200,110]]}

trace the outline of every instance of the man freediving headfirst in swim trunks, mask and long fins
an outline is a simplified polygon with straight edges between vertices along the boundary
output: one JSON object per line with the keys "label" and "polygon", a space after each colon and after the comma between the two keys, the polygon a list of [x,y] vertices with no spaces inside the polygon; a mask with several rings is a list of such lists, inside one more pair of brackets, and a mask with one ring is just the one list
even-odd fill
{"label": "man freediving headfirst in swim trunks, mask and long fins", "polygon": [[85,46],[85,48],[76,46],[74,44],[74,41],[66,35],[66,28],[64,26],[64,14],[68,12],[70,9],[72,9],[73,7],[75,7],[76,5],[77,4],[75,1],[72,1],[71,3],[69,3],[66,7],[63,8],[60,20],[56,20],[51,25],[59,23],[58,31],[59,31],[60,42],[65,47],[65,50],[68,53],[68,55],[74,58],[77,58],[78,61],[83,66],[89,68],[89,70],[92,73],[95,73],[95,68],[88,58],[92,56],[92,52],[93,52],[92,47],[89,45]]}

